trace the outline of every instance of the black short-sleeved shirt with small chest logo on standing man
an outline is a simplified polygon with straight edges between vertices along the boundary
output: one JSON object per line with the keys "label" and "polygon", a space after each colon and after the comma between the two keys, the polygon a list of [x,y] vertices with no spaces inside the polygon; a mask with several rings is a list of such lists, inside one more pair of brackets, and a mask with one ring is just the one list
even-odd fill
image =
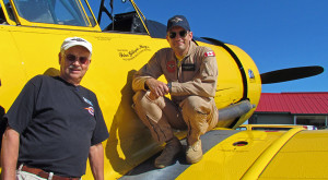
{"label": "black short-sleeved shirt with small chest logo on standing man", "polygon": [[65,177],[83,176],[90,147],[108,137],[95,94],[60,77],[33,77],[4,118],[21,134],[19,164]]}

